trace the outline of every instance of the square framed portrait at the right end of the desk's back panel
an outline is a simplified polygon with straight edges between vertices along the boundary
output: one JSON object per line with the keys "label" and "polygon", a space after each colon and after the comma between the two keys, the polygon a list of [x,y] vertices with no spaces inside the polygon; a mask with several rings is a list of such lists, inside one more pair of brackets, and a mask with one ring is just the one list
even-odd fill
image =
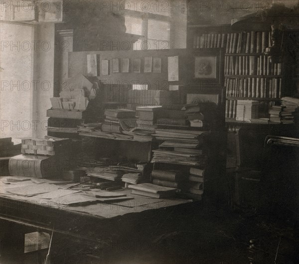
{"label": "square framed portrait at the right end of the desk's back panel", "polygon": [[224,85],[224,53],[221,49],[202,49],[193,53],[193,83],[205,86]]}

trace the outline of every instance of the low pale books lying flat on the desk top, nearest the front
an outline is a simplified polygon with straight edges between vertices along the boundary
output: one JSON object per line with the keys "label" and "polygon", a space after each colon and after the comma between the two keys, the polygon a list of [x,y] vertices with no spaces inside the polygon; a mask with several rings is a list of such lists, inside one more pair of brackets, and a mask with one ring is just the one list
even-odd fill
{"label": "low pale books lying flat on the desk top, nearest the front", "polygon": [[131,184],[129,188],[132,189],[132,194],[153,198],[173,197],[176,192],[176,188],[154,185],[152,183]]}

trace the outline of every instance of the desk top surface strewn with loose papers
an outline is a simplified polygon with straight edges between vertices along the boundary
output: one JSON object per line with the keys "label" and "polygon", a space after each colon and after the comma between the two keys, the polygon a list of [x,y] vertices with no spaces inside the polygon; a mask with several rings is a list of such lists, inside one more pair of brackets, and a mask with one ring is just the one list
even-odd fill
{"label": "desk top surface strewn with loose papers", "polygon": [[[9,176],[13,177],[13,176]],[[41,182],[45,179],[37,179]],[[89,191],[78,191],[76,193],[70,193],[64,196],[56,196],[52,199],[43,198],[41,195],[32,195],[32,196],[25,196],[25,195],[17,195],[15,193],[11,193],[11,190],[18,190],[20,192],[28,190],[28,193],[31,190],[36,190],[41,188],[41,184],[43,187],[50,188],[51,191],[46,193],[52,193],[59,191],[67,190],[71,185],[64,184],[64,185],[56,185],[53,183],[49,183],[48,180],[42,183],[34,183],[32,179],[25,180],[25,181],[18,181],[18,182],[7,182],[7,177],[0,177],[0,198],[5,198],[6,201],[9,201],[11,204],[13,203],[22,203],[27,205],[34,205],[39,208],[52,208],[52,209],[59,209],[65,212],[73,212],[78,214],[87,214],[89,216],[98,217],[98,218],[113,218],[117,216],[122,216],[125,214],[131,213],[139,213],[147,210],[159,209],[163,207],[170,207],[184,203],[190,203],[191,200],[187,199],[179,199],[179,198],[151,198],[146,196],[140,195],[133,195],[131,194],[130,189],[123,189],[119,192],[122,194],[126,194],[130,200],[123,200],[123,201],[105,201],[103,202],[99,198],[95,198],[94,195],[91,195]],[[98,190],[99,192],[103,192],[102,190]],[[34,192],[34,191],[33,191]],[[92,191],[92,194],[96,193],[97,191]],[[25,192],[24,192],[25,193]],[[29,194],[30,195],[30,194]],[[86,203],[78,203],[72,206],[68,205],[68,201],[74,199],[75,197],[78,198],[87,198],[93,197],[91,202]],[[80,199],[81,199],[80,198]],[[9,206],[9,205],[8,205]]]}

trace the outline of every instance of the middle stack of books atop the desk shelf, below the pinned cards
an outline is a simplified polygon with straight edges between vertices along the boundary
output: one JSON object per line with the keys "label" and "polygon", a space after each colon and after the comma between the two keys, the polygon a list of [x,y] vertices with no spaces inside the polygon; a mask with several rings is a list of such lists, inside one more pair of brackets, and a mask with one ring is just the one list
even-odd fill
{"label": "middle stack of books atop the desk shelf, below the pinned cards", "polygon": [[161,105],[136,107],[136,112],[138,116],[138,120],[136,120],[137,128],[146,130],[154,129],[153,125],[157,120],[161,107]]}

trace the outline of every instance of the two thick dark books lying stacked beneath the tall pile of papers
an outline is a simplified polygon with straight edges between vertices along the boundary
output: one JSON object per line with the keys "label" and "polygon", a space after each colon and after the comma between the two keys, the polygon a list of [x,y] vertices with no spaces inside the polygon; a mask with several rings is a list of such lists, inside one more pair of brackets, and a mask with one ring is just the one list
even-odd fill
{"label": "two thick dark books lying stacked beneath the tall pile of papers", "polygon": [[153,170],[151,177],[152,184],[171,188],[180,188],[181,182],[185,178],[181,171],[172,170]]}

